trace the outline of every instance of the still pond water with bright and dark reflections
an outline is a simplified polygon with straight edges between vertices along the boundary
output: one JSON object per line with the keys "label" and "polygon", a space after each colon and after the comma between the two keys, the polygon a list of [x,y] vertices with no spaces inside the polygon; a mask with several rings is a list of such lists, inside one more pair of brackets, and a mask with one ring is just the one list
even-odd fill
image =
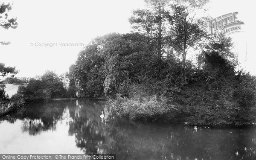
{"label": "still pond water with bright and dark reflections", "polygon": [[256,128],[140,124],[114,119],[104,101],[52,101],[0,119],[0,154],[15,153],[116,154],[117,160],[253,160]]}

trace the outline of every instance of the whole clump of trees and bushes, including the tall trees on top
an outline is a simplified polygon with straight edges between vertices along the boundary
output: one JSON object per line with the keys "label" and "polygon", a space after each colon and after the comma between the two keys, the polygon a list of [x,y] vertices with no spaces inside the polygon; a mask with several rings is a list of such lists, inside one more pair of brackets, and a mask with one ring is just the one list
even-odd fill
{"label": "whole clump of trees and bushes, including the tall trees on top", "polygon": [[[148,0],[148,9],[134,11],[133,33],[88,44],[70,79],[90,96],[109,97],[112,113],[132,120],[252,124],[256,80],[237,68],[231,38],[207,35],[193,0],[162,2]],[[192,48],[199,52],[190,61]]]}

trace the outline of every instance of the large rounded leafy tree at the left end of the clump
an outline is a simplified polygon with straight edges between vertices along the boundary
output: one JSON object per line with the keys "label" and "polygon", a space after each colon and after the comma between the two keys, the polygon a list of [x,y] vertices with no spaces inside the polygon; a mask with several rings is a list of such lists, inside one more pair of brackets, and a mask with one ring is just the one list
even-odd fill
{"label": "large rounded leafy tree at the left end of the clump", "polygon": [[[90,96],[125,92],[130,81],[145,77],[154,56],[148,55],[147,38],[138,33],[116,33],[94,39],[70,67],[70,78]],[[126,85],[127,84],[127,85]]]}

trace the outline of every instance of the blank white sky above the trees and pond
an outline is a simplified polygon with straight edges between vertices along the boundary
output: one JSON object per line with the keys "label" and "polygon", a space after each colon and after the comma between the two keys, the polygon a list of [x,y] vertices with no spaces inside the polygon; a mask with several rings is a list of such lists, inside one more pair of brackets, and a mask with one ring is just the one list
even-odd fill
{"label": "blank white sky above the trees and pond", "polygon": [[[145,5],[144,0],[0,1],[13,3],[10,15],[17,17],[19,23],[17,29],[0,29],[0,41],[12,43],[0,45],[0,62],[16,66],[20,70],[17,77],[34,77],[46,70],[54,70],[58,74],[67,72],[79,51],[93,38],[111,32],[130,32],[128,18],[132,10]],[[239,52],[241,67],[256,75],[253,1],[211,0],[208,7],[202,17],[239,12],[237,17],[245,23],[242,25],[244,32],[230,36],[236,42],[235,50]]]}

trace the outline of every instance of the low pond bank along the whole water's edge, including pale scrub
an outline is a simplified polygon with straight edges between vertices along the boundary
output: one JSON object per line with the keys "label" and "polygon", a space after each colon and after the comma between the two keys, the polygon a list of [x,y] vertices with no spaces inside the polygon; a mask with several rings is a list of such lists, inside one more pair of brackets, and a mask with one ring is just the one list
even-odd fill
{"label": "low pond bank along the whole water's edge, including pale scrub", "polygon": [[[242,128],[242,127],[253,127],[256,122],[254,119],[251,121],[241,122],[232,121],[229,116],[221,115],[219,111],[207,113],[208,119],[205,119],[202,115],[188,114],[182,110],[184,107],[178,105],[166,105],[162,102],[157,101],[155,98],[144,99],[144,101],[136,101],[134,99],[97,99],[97,98],[62,98],[62,99],[48,99],[42,101],[29,101],[25,102],[22,99],[16,101],[5,101],[0,105],[0,117],[5,116],[8,113],[12,113],[18,108],[37,104],[48,104],[54,101],[102,101],[108,105],[109,114],[111,117],[117,119],[125,119],[131,122],[140,122],[145,124],[178,124],[178,125],[191,125],[201,127],[213,127],[213,128]],[[201,110],[206,110],[203,106]],[[192,109],[189,111],[193,112]],[[195,113],[194,113],[195,114]],[[218,115],[219,114],[219,115]],[[230,113],[232,114],[232,113]],[[198,116],[195,118],[195,116]],[[212,117],[210,117],[212,116]]]}

